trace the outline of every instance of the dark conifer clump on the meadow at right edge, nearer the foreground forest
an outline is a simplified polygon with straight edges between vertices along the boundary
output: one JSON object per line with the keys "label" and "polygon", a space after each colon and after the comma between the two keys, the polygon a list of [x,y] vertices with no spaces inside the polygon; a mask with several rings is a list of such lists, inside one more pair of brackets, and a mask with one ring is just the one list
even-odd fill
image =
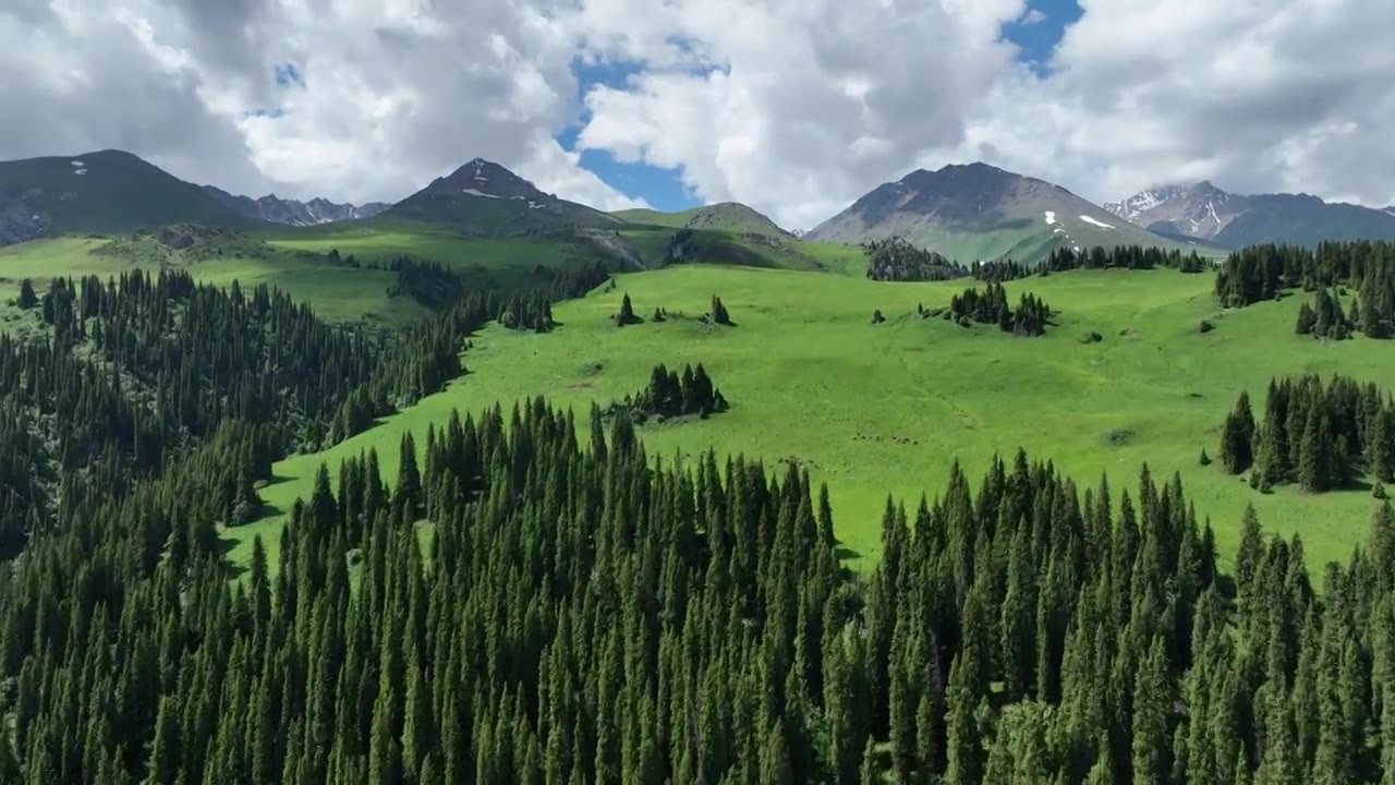
{"label": "dark conifer clump on the meadow at right edge, nearer the foreground forest", "polygon": [[1296,482],[1321,493],[1362,472],[1395,482],[1395,401],[1343,376],[1271,380],[1262,423],[1247,392],[1226,416],[1221,461],[1230,474],[1253,468],[1250,482],[1261,490]]}

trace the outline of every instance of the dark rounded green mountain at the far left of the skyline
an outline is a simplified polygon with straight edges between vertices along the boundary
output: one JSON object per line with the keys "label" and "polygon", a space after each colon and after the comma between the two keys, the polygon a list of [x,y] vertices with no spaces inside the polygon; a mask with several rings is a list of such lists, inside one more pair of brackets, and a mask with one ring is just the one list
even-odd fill
{"label": "dark rounded green mountain at the far left of the skyline", "polygon": [[261,225],[130,152],[0,162],[0,244],[170,223]]}

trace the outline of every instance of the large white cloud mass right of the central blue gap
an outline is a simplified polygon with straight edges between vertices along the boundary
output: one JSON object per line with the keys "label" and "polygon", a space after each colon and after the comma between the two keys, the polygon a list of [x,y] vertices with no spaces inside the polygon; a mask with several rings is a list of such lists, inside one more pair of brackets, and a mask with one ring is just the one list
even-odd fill
{"label": "large white cloud mass right of the central blue gap", "polygon": [[1000,41],[1023,3],[675,0],[643,28],[625,3],[589,3],[590,36],[651,68],[589,92],[582,144],[787,225],[974,159],[1096,201],[1201,177],[1395,200],[1391,3],[1081,0],[1046,75]]}

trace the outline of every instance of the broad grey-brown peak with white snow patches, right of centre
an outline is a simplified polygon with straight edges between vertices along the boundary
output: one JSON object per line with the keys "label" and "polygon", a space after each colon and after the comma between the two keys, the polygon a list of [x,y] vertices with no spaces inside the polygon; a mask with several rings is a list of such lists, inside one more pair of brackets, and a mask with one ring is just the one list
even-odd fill
{"label": "broad grey-brown peak with white snow patches, right of centre", "polygon": [[995,258],[1030,264],[1062,246],[1205,250],[1120,221],[1060,186],[986,163],[917,169],[872,190],[805,239],[861,243],[890,236],[961,264]]}

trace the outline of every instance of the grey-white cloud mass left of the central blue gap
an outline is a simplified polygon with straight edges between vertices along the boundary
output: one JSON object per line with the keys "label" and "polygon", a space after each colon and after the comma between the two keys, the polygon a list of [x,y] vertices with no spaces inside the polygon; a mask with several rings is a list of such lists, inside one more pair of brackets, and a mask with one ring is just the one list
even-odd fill
{"label": "grey-white cloud mass left of the central blue gap", "polygon": [[0,155],[119,147],[230,190],[356,201],[483,156],[568,198],[633,205],[554,140],[580,106],[576,38],[554,11],[17,0],[0,10],[0,116],[27,122],[0,124]]}

